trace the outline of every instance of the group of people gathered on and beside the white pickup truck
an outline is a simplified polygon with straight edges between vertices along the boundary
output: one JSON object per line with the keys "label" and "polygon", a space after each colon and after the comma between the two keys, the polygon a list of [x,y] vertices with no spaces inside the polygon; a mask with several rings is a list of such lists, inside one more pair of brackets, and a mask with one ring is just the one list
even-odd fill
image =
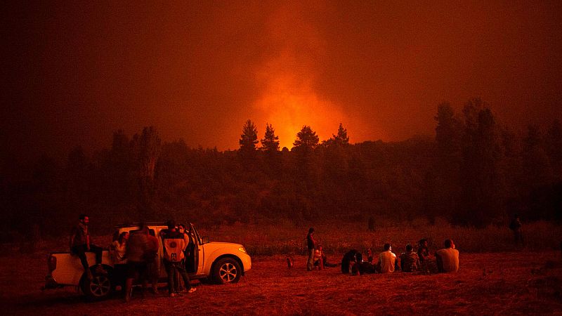
{"label": "group of people gathered on and beside the white pickup truck", "polygon": [[[91,243],[88,230],[89,216],[81,214],[78,225],[70,235],[70,252],[79,256],[86,276],[93,279],[93,273],[89,268],[86,252],[96,254],[96,274],[107,274],[101,265],[102,251],[100,246]],[[185,270],[185,258],[188,258],[195,243],[190,232],[185,230],[185,225],[176,225],[174,220],[169,220],[167,229],[160,231],[162,248],[164,250],[163,263],[168,275],[169,296],[174,297],[183,292],[192,293],[195,288],[191,287],[190,279]],[[143,294],[148,282],[152,284],[152,293],[158,294],[158,279],[160,271],[160,260],[158,256],[159,240],[154,230],[141,224],[138,230],[122,232],[113,237],[110,246],[110,254],[114,264],[112,275],[116,285],[120,285],[124,291],[125,301],[131,300],[131,289],[136,279],[143,287]],[[181,285],[180,277],[183,280]]]}

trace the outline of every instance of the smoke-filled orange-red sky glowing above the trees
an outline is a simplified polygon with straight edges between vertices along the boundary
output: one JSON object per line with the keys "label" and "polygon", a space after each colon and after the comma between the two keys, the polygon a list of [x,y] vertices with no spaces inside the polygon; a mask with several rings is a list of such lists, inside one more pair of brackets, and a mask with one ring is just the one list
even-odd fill
{"label": "smoke-filled orange-red sky glowing above the trees", "polygon": [[502,123],[562,119],[561,1],[30,1],[2,4],[0,145],[66,154],[155,126],[237,149],[339,123],[352,143],[433,135],[480,96]]}

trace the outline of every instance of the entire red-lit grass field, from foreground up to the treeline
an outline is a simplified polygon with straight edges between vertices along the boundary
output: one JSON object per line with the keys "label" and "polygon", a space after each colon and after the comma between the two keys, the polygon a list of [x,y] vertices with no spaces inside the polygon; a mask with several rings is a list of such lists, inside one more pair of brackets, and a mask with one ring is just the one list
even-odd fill
{"label": "entire red-lit grass field, from foreground up to the treeline", "polygon": [[[543,225],[543,226],[540,226]],[[139,290],[129,304],[118,296],[89,303],[74,288],[40,291],[46,274],[46,254],[53,242],[41,242],[32,254],[16,246],[0,256],[0,304],[3,315],[550,315],[562,314],[562,256],[554,250],[559,229],[540,224],[528,228],[532,236],[523,249],[509,248],[509,231],[453,229],[432,226],[420,232],[405,229],[377,229],[350,234],[348,227],[318,225],[317,237],[328,251],[329,261],[339,262],[345,249],[360,251],[381,243],[397,241],[399,246],[420,237],[455,239],[460,256],[456,274],[422,275],[395,272],[391,275],[342,275],[339,268],[306,271],[301,255],[306,228],[244,228],[242,225],[200,229],[212,240],[242,242],[252,254],[253,266],[239,283],[225,286],[195,283],[197,291],[178,298],[146,294]],[[537,230],[537,232],[535,232]],[[540,231],[542,232],[540,232]],[[544,230],[547,230],[544,232]],[[251,233],[250,233],[251,232]],[[498,236],[490,239],[490,236]],[[541,235],[542,234],[542,235]],[[473,235],[473,236],[471,236]],[[345,236],[345,237],[343,237]],[[419,236],[419,237],[417,237]],[[102,244],[98,237],[96,242]],[[473,242],[476,239],[477,242]],[[489,242],[504,251],[473,249]],[[529,244],[543,242],[535,251]],[[63,243],[64,244],[64,243]],[[440,242],[439,242],[440,244]],[[438,242],[433,243],[438,247]],[[465,248],[466,247],[466,248]],[[398,249],[397,249],[398,248]],[[482,252],[480,252],[482,251]],[[9,255],[8,255],[9,254]],[[286,254],[295,266],[287,268]]]}

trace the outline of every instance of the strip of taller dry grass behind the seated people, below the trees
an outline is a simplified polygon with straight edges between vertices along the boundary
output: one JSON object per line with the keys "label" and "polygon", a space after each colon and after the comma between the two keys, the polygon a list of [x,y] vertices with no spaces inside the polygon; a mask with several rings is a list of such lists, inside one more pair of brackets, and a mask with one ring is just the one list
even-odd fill
{"label": "strip of taller dry grass behind the seated people, below the trees", "polygon": [[514,246],[513,235],[507,225],[487,228],[455,227],[445,220],[436,220],[429,225],[426,220],[417,219],[406,223],[387,222],[384,218],[375,220],[375,230],[367,230],[367,223],[313,223],[296,226],[289,222],[273,222],[261,225],[224,225],[212,229],[200,228],[202,235],[211,241],[225,240],[244,244],[249,254],[271,256],[275,254],[306,254],[305,237],[308,228],[315,228],[315,239],[322,244],[327,254],[341,256],[349,249],[365,253],[382,251],[387,242],[395,253],[403,252],[405,245],[414,247],[421,238],[429,239],[431,251],[443,248],[443,241],[452,238],[461,252],[504,252],[559,250],[562,241],[562,227],[549,222],[537,222],[523,226],[525,246]]}

